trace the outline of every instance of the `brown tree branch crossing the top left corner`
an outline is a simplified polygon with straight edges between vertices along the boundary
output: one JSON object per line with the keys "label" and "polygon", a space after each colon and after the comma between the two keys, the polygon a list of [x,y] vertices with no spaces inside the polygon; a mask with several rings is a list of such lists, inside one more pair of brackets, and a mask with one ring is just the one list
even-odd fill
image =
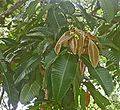
{"label": "brown tree branch crossing the top left corner", "polygon": [[18,2],[16,2],[13,6],[11,6],[9,9],[7,9],[6,11],[0,14],[0,19],[8,17],[15,10],[17,10],[22,4],[24,4],[26,1],[27,0],[18,0]]}

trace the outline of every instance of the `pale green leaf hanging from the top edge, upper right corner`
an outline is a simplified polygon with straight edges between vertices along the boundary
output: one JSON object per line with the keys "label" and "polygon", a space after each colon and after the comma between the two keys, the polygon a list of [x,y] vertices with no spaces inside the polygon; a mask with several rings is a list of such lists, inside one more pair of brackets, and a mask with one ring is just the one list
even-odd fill
{"label": "pale green leaf hanging from the top edge, upper right corner", "polygon": [[105,19],[110,22],[117,13],[118,0],[99,0]]}

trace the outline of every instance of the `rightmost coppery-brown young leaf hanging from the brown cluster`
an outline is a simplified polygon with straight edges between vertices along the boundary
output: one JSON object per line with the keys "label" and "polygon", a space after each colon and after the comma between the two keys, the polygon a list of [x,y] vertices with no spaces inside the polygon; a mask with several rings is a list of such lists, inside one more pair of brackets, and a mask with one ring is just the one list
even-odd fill
{"label": "rightmost coppery-brown young leaf hanging from the brown cluster", "polygon": [[95,68],[99,61],[99,50],[92,40],[88,43],[88,55],[92,66]]}

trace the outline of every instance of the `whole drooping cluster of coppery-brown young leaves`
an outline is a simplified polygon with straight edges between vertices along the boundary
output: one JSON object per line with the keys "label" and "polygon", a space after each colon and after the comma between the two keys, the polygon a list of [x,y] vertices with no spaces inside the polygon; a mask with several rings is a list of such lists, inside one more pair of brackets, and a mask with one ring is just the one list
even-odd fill
{"label": "whole drooping cluster of coppery-brown young leaves", "polygon": [[[63,47],[70,47],[71,52],[79,57],[82,54],[88,54],[92,66],[95,68],[99,61],[99,49],[95,42],[99,42],[98,39],[90,33],[84,32],[77,28],[65,32],[55,45],[56,54],[60,53]],[[85,70],[85,65],[80,61],[81,73]]]}

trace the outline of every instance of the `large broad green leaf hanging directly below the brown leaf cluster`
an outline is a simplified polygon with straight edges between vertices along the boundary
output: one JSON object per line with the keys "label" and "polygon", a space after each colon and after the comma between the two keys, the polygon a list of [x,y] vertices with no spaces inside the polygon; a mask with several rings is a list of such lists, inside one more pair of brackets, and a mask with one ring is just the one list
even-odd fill
{"label": "large broad green leaf hanging directly below the brown leaf cluster", "polygon": [[51,82],[53,97],[61,101],[75,78],[77,58],[71,54],[61,55],[53,64]]}

